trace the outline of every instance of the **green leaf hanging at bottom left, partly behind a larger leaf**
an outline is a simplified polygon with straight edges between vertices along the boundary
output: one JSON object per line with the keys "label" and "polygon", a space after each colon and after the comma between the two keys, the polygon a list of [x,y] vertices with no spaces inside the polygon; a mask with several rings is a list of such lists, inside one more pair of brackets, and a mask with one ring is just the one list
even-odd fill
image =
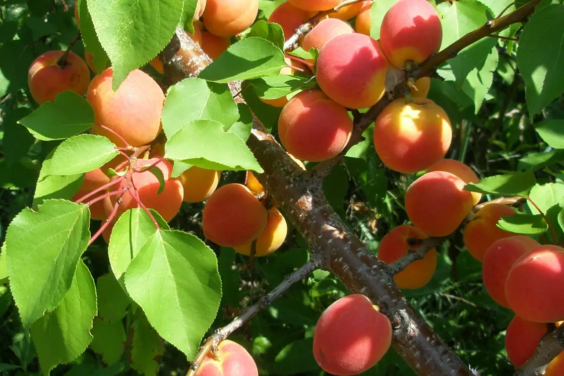
{"label": "green leaf hanging at bottom left, partly behind a larger leaf", "polygon": [[31,326],[39,364],[45,374],[58,364],[73,361],[92,340],[90,329],[96,316],[96,290],[90,271],[78,260],[68,293],[55,311]]}

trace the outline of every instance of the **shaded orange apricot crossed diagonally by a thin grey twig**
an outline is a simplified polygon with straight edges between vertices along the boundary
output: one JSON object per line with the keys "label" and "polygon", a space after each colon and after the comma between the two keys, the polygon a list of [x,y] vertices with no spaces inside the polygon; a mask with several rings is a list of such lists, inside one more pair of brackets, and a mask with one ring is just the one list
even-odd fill
{"label": "shaded orange apricot crossed diagonally by a thin grey twig", "polygon": [[[387,265],[399,260],[410,249],[417,249],[409,245],[409,238],[425,239],[427,236],[420,229],[408,224],[394,227],[380,241],[378,258]],[[409,264],[407,268],[394,276],[394,281],[400,289],[420,289],[429,283],[437,269],[437,251],[433,248],[421,260]]]}

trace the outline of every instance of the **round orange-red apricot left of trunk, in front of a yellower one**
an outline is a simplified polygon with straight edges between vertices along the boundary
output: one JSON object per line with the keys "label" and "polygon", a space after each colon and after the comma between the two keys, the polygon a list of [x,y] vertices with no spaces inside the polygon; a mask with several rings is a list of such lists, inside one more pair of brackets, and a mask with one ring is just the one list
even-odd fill
{"label": "round orange-red apricot left of trunk, in front of a yellower one", "polygon": [[204,236],[224,247],[252,242],[264,231],[268,211],[243,184],[219,187],[202,213]]}

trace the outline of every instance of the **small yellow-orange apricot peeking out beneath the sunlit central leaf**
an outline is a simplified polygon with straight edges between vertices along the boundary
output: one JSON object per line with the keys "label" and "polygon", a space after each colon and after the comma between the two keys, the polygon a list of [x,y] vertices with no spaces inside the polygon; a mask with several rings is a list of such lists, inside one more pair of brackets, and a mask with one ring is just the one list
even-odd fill
{"label": "small yellow-orange apricot peeking out beneath the sunlit central leaf", "polygon": [[221,171],[192,166],[179,176],[184,187],[184,202],[201,202],[211,196],[221,178]]}

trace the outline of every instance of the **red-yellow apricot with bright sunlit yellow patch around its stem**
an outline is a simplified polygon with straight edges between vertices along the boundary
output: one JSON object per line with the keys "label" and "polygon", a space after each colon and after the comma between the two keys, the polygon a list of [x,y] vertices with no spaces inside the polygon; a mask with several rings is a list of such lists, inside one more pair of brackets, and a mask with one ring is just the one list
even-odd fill
{"label": "red-yellow apricot with bright sunlit yellow patch around its stem", "polygon": [[388,104],[374,124],[374,149],[391,170],[411,174],[443,158],[452,141],[448,115],[432,100],[400,98]]}

